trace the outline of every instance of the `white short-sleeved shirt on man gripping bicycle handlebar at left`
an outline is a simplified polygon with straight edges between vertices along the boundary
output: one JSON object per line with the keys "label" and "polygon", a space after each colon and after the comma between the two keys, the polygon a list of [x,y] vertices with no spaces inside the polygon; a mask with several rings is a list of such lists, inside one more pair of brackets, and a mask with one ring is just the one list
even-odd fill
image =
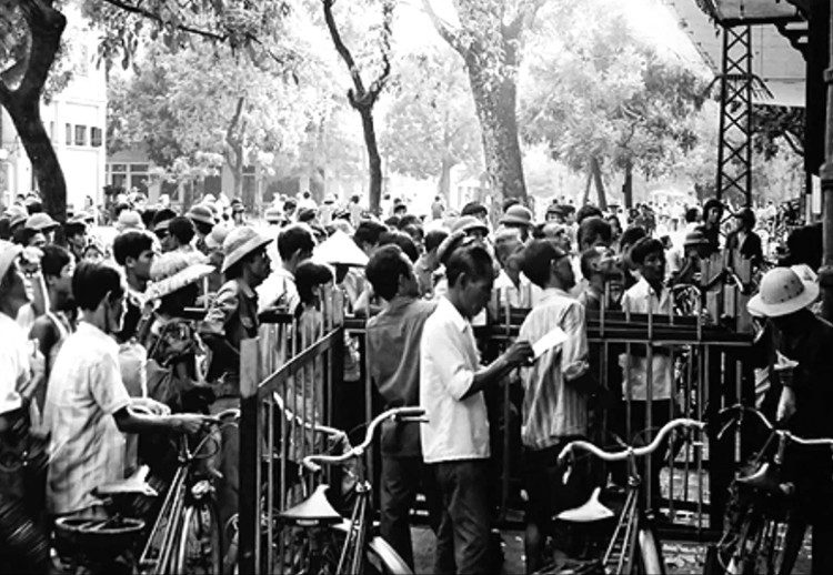
{"label": "white short-sleeved shirt on man gripping bicycle handlebar at left", "polygon": [[81,322],[58,353],[47,387],[49,513],[97,505],[99,501],[90,493],[94,487],[124,478],[124,434],[113,414],[129,403],[119,370],[119,345]]}

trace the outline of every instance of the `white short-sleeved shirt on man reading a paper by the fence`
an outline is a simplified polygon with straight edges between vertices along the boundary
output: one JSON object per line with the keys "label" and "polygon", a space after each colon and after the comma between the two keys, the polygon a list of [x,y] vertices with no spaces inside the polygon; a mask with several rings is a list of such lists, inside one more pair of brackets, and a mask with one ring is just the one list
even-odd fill
{"label": "white short-sleeved shirt on man reading a paper by the fence", "polygon": [[441,297],[420,344],[420,406],[429,420],[420,427],[425,463],[489,457],[483,393],[462,399],[479,369],[471,324]]}

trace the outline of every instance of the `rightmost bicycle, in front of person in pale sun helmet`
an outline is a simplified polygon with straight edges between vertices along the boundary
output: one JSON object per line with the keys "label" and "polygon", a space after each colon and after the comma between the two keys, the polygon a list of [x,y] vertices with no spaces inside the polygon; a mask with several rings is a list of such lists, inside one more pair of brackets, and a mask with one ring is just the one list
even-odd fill
{"label": "rightmost bicycle, in front of person in pale sun helmet", "polygon": [[[725,407],[721,410],[720,415],[727,413],[737,415],[721,428],[719,440],[733,425],[740,425],[745,413],[754,415],[769,430],[770,435],[752,460],[754,471],[747,475],[739,475],[735,480],[732,487],[736,496],[734,508],[731,510],[720,541],[710,553],[711,561],[706,562],[706,573],[714,573],[719,567],[721,573],[729,575],[787,575],[797,559],[804,529],[796,529],[790,522],[795,485],[782,481],[786,445],[792,442],[803,446],[833,447],[833,440],[806,440],[789,431],[775,428],[763,413],[746,405]],[[762,462],[775,440],[777,447],[772,461]]]}

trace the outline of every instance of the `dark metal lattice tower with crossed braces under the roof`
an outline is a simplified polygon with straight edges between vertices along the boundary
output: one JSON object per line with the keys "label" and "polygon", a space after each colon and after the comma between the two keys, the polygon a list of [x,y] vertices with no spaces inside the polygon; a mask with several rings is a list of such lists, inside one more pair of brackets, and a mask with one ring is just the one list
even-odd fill
{"label": "dark metal lattice tower with crossed braces under the roof", "polygon": [[749,26],[723,29],[720,77],[717,199],[752,203],[752,34]]}

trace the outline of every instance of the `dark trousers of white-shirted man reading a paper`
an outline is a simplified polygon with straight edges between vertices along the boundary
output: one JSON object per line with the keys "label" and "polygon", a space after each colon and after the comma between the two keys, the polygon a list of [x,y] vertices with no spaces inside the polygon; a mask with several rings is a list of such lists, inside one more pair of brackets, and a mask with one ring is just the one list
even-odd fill
{"label": "dark trousers of white-shirted man reading a paper", "polygon": [[[488,460],[433,464],[442,502],[434,573],[492,573]],[[454,568],[454,566],[456,568]]]}

